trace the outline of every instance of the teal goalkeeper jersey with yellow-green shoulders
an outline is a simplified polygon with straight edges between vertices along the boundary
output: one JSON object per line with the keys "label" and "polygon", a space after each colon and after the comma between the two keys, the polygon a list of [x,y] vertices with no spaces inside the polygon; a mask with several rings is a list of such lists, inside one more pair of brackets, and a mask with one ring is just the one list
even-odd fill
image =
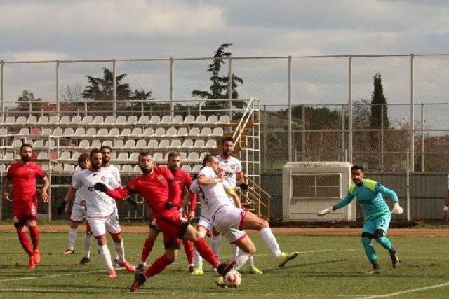
{"label": "teal goalkeeper jersey with yellow-green shoulders", "polygon": [[334,207],[340,209],[356,198],[362,207],[365,220],[370,220],[384,214],[391,214],[384,197],[390,197],[394,202],[398,202],[398,195],[393,190],[382,186],[377,181],[363,179],[361,186],[351,184],[347,195]]}

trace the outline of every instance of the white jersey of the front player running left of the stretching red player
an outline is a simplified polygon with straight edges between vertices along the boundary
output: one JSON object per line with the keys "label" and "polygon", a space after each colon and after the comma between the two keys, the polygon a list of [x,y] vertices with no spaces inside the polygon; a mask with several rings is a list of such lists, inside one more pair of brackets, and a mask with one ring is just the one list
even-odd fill
{"label": "white jersey of the front player running left of the stretching red player", "polygon": [[89,169],[82,170],[74,176],[72,187],[81,190],[86,200],[87,216],[91,218],[101,218],[109,216],[116,211],[116,203],[112,197],[105,193],[94,190],[95,183],[104,183],[108,188],[119,188],[120,184],[107,169],[100,168],[98,172],[91,172]]}

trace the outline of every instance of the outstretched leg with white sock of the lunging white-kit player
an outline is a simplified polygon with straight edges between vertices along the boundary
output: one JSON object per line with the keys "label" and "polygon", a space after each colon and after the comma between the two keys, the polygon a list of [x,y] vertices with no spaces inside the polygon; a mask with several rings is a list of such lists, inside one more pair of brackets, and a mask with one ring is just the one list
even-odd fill
{"label": "outstretched leg with white sock of the lunging white-kit player", "polygon": [[279,263],[279,267],[284,267],[289,260],[293,260],[299,254],[298,252],[284,253],[279,249],[279,244],[274,237],[271,228],[269,228],[268,221],[259,218],[250,211],[246,211],[241,225],[242,230],[258,230],[262,241],[272,251]]}

